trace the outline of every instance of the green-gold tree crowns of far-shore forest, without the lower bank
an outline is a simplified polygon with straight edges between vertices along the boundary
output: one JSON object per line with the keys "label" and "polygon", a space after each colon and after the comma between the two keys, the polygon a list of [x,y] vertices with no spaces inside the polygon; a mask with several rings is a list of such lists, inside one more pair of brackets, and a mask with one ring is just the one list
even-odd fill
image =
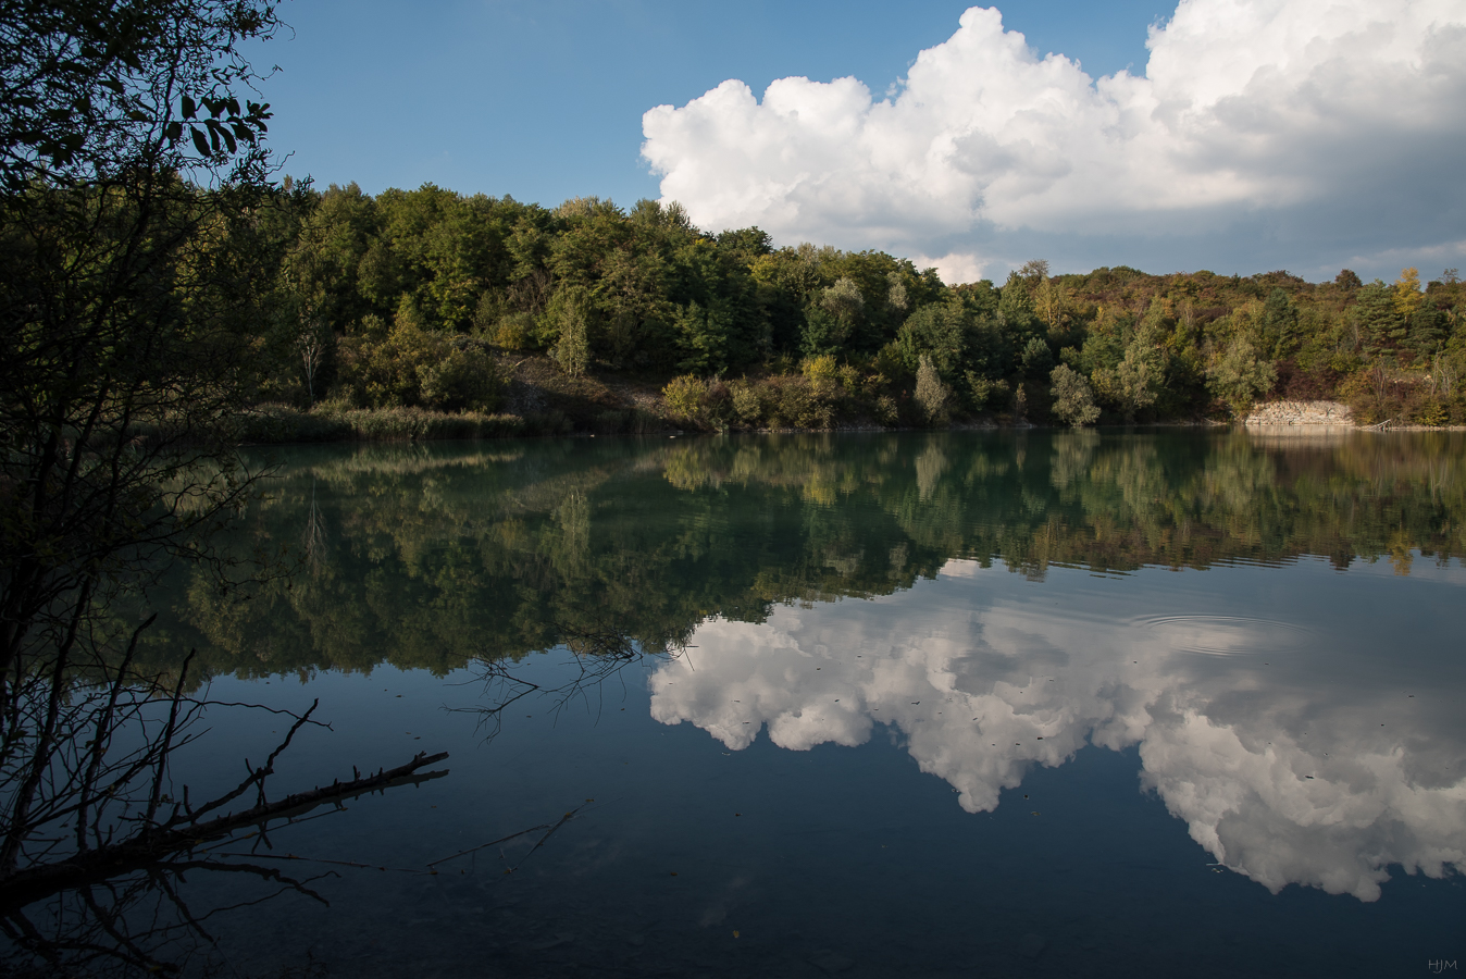
{"label": "green-gold tree crowns of far-shore forest, without the lower bank", "polygon": [[[1038,422],[1063,421],[1047,394],[1057,365],[1089,384],[1101,422],[1230,413],[1246,399],[1220,394],[1208,371],[1221,369],[1237,337],[1272,365],[1280,393],[1296,396],[1346,397],[1344,380],[1381,358],[1421,384],[1437,353],[1466,363],[1459,287],[1444,278],[1412,293],[1359,283],[1347,270],[1311,284],[1286,271],[1053,276],[1035,259],[1001,286],[947,286],[883,252],[774,248],[758,229],[707,234],[680,207],[657,201],[541,208],[431,185],[375,198],[330,188],[311,201],[302,254],[292,256],[303,270],[292,281],[305,283],[306,296],[296,306],[320,311],[337,340],[361,333],[368,317],[391,321],[406,296],[428,333],[658,387],[677,374],[756,378],[833,356],[880,378],[831,403],[836,416],[856,419],[891,418],[894,404],[907,424],[922,422],[912,399],[924,356],[949,388],[949,415],[1007,415],[1022,393]],[[1418,302],[1404,315],[1407,293]],[[323,377],[331,383],[333,368]],[[1443,404],[1466,419],[1460,391]]]}

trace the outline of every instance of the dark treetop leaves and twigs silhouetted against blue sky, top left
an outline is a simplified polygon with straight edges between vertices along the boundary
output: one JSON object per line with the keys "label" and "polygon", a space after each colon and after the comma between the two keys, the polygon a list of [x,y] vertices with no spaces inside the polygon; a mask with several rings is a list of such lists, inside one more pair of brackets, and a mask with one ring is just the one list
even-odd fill
{"label": "dark treetop leaves and twigs silhouetted against blue sky, top left", "polygon": [[[273,0],[12,0],[0,7],[0,186],[95,186],[245,163],[270,106],[239,53]],[[237,157],[240,148],[246,152]]]}

